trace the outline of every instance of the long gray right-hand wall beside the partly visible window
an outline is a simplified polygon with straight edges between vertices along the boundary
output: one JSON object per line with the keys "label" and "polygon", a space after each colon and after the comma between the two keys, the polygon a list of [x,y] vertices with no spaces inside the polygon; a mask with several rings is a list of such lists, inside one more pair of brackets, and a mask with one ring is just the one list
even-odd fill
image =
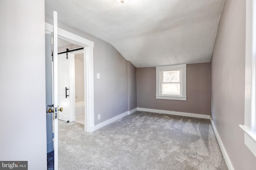
{"label": "long gray right-hand wall beside the partly visible window", "polygon": [[211,61],[211,117],[235,170],[252,170],[244,145],[245,0],[226,0]]}

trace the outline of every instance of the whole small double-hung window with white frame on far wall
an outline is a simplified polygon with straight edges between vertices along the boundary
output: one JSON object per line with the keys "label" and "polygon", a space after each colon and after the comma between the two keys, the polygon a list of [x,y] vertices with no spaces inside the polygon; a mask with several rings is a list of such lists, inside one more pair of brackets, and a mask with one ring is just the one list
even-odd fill
{"label": "whole small double-hung window with white frame on far wall", "polygon": [[156,67],[156,99],[187,100],[186,64]]}

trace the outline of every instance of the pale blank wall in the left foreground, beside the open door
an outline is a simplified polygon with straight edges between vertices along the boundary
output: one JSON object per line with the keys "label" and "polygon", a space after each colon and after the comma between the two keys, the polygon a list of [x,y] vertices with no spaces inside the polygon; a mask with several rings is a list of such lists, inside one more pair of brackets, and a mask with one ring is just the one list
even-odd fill
{"label": "pale blank wall in the left foreground, beside the open door", "polygon": [[0,21],[0,160],[46,170],[44,0],[1,0]]}

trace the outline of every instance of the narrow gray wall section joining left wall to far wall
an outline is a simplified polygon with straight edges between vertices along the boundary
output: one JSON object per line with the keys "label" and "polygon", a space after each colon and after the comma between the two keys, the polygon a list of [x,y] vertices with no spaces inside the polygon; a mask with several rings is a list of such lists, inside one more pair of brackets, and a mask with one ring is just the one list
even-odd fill
{"label": "narrow gray wall section joining left wall to far wall", "polygon": [[127,61],[128,111],[137,108],[136,67]]}

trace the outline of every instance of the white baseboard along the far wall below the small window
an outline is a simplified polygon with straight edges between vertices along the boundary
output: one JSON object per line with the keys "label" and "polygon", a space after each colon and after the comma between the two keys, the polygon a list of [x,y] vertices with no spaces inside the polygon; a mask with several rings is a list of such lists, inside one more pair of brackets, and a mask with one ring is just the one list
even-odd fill
{"label": "white baseboard along the far wall below the small window", "polygon": [[168,115],[178,115],[178,116],[186,116],[186,117],[196,117],[196,118],[202,118],[202,119],[210,119],[209,115],[200,115],[196,113],[185,113],[185,112],[179,112],[179,111],[168,111],[168,110],[157,110],[157,109],[146,109],[146,108],[137,108],[138,111],[148,111],[153,113],[162,113],[162,114],[168,114]]}

